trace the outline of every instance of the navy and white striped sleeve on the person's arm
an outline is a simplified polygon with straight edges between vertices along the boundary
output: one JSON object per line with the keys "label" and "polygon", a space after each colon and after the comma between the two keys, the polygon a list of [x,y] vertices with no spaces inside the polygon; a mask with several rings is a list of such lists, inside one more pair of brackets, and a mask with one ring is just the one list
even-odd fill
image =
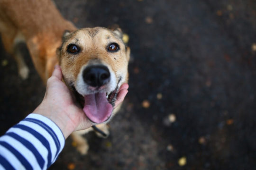
{"label": "navy and white striped sleeve on the person's arm", "polygon": [[52,120],[29,114],[0,137],[0,170],[46,170],[64,144],[65,138]]}

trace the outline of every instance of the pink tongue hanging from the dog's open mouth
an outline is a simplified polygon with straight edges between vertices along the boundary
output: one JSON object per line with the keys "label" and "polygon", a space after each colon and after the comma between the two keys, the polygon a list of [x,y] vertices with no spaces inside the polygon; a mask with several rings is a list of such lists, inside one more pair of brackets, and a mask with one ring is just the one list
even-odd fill
{"label": "pink tongue hanging from the dog's open mouth", "polygon": [[94,93],[84,96],[83,111],[95,123],[102,123],[109,119],[113,107],[106,98],[106,93]]}

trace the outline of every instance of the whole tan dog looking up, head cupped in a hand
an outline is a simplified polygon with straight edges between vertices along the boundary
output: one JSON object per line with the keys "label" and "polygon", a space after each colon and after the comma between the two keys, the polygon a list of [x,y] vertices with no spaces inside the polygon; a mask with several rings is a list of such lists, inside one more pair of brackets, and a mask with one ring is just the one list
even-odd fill
{"label": "whole tan dog looking up, head cupped in a hand", "polygon": [[[18,74],[26,79],[29,69],[19,44],[26,43],[34,66],[46,84],[59,64],[65,84],[76,96],[99,136],[108,136],[106,123],[113,111],[120,85],[128,82],[130,49],[118,27],[77,29],[64,19],[51,0],[0,0],[0,34],[7,52],[17,61]],[[82,134],[72,133],[77,150],[89,146]]]}

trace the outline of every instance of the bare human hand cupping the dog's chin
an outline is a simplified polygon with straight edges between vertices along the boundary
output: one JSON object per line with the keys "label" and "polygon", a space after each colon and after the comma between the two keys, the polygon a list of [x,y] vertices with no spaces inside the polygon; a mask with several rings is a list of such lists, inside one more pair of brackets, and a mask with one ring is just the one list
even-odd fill
{"label": "bare human hand cupping the dog's chin", "polygon": [[[127,89],[126,83],[120,86],[116,106],[124,100],[128,93]],[[54,121],[67,138],[73,131],[92,126],[82,108],[74,101],[73,94],[62,82],[61,68],[55,66],[52,76],[47,80],[45,97],[33,113],[41,114]]]}

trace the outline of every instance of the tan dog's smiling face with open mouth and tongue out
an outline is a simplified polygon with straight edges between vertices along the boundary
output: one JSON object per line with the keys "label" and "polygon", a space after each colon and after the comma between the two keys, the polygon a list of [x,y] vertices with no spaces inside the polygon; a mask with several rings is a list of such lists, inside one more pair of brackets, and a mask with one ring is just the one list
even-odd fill
{"label": "tan dog's smiling face with open mouth and tongue out", "polygon": [[120,30],[82,28],[64,35],[58,53],[66,85],[95,124],[113,117],[120,85],[128,81],[130,50]]}

